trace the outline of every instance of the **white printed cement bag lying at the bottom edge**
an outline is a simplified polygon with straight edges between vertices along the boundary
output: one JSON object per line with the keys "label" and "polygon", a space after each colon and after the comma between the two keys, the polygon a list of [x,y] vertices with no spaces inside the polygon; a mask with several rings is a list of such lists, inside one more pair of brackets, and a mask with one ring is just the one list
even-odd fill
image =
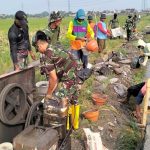
{"label": "white printed cement bag lying at the bottom edge", "polygon": [[89,128],[83,128],[86,135],[86,150],[108,150],[103,146],[99,132],[92,132]]}

